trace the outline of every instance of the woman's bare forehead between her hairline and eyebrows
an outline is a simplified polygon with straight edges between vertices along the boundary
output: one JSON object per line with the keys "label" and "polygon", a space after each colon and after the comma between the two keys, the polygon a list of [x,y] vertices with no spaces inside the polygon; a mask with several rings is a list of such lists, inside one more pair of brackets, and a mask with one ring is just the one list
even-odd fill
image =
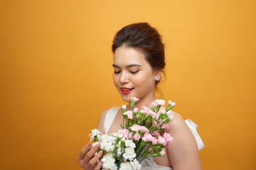
{"label": "woman's bare forehead between her hairline and eyebrows", "polygon": [[142,66],[146,66],[149,65],[149,62],[146,61],[145,55],[142,51],[137,50],[134,47],[122,45],[114,52],[114,64],[119,66],[141,64]]}

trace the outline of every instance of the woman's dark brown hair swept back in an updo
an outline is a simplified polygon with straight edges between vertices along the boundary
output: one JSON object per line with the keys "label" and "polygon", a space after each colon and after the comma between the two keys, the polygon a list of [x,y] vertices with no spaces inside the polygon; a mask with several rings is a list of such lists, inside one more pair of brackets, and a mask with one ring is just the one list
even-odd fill
{"label": "woman's dark brown hair swept back in an updo", "polygon": [[122,45],[141,50],[151,68],[161,69],[164,73],[164,44],[159,32],[149,23],[133,23],[119,30],[114,35],[112,52]]}

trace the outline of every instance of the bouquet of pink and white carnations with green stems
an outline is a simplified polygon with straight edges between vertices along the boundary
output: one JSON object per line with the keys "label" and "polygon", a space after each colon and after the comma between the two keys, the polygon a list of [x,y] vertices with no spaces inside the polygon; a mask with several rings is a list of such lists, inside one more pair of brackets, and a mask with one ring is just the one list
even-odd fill
{"label": "bouquet of pink and white carnations with green stems", "polygon": [[[140,162],[143,159],[164,155],[165,149],[169,148],[173,141],[166,131],[169,129],[168,123],[174,118],[170,110],[175,103],[169,101],[169,105],[159,113],[161,106],[165,105],[163,99],[152,102],[151,108],[142,106],[142,111],[134,108],[137,101],[139,98],[132,97],[129,111],[126,106],[122,106],[121,130],[109,135],[100,135],[100,131],[95,129],[89,135],[91,141],[95,142],[92,146],[100,142],[98,152],[103,151],[103,170],[139,170],[142,168]],[[164,135],[160,135],[163,130]]]}

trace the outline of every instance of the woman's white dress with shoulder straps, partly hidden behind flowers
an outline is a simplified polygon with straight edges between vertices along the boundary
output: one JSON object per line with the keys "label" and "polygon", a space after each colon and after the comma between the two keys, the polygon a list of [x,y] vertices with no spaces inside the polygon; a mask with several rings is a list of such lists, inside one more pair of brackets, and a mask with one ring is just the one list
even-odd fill
{"label": "woman's white dress with shoulder straps, partly hidden behind flowers", "polygon": [[[114,117],[117,115],[117,112],[119,110],[120,107],[114,107],[114,108],[110,108],[109,111],[107,111],[106,117],[105,117],[105,122],[104,122],[104,132],[105,134],[107,134],[108,130],[110,129],[110,126],[112,125],[112,122],[114,120]],[[175,113],[173,111],[171,111],[172,113]],[[178,113],[176,113],[178,115]],[[181,116],[181,115],[179,115]],[[198,145],[198,150],[201,150],[204,145],[203,145],[203,141],[201,140],[201,137],[199,136],[198,132],[196,131],[196,128],[198,127],[198,125],[196,125],[196,123],[193,123],[192,120],[188,119],[185,120],[186,124],[188,125],[188,128],[191,130],[191,132],[193,133],[193,136],[196,139],[196,143]],[[142,162],[142,170],[172,170],[170,167],[167,166],[160,166],[157,165],[154,160],[150,157],[149,159],[144,159]]]}

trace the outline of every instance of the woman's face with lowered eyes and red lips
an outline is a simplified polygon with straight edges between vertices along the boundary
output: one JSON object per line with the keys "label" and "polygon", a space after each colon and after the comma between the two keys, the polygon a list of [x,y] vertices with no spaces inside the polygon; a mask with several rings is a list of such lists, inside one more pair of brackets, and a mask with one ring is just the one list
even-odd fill
{"label": "woman's face with lowered eyes and red lips", "polygon": [[154,77],[157,72],[151,69],[144,54],[133,47],[122,45],[114,52],[113,81],[124,101],[132,97],[140,100],[154,98]]}

